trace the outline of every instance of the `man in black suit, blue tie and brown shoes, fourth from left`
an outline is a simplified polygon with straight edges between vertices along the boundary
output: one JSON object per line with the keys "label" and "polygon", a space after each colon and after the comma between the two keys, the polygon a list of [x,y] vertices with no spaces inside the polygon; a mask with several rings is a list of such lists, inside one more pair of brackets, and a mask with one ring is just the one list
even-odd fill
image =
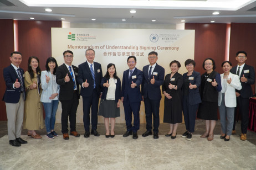
{"label": "man in black suit, blue tie and brown shoes, fourth from left", "polygon": [[79,104],[78,67],[71,65],[73,52],[63,52],[64,63],[56,71],[56,82],[60,85],[59,100],[62,103],[62,133],[63,139],[69,140],[68,118],[70,122],[70,135],[79,137],[76,132],[76,110]]}

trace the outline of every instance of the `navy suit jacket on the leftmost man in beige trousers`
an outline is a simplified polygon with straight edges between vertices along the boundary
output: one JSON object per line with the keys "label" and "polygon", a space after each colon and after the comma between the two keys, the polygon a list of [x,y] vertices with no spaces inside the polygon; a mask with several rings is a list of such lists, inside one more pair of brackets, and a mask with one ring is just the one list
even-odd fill
{"label": "navy suit jacket on the leftmost man in beige trousers", "polygon": [[[25,93],[25,82],[23,77],[24,70],[22,68],[19,68],[19,71],[21,72],[23,81],[23,93]],[[4,92],[2,100],[6,103],[18,103],[19,98],[21,97],[21,87],[13,88],[13,84],[14,82],[16,82],[16,79],[18,79],[19,83],[21,82],[19,81],[19,76],[12,65],[3,69],[3,77],[4,81],[6,82],[6,92]]]}

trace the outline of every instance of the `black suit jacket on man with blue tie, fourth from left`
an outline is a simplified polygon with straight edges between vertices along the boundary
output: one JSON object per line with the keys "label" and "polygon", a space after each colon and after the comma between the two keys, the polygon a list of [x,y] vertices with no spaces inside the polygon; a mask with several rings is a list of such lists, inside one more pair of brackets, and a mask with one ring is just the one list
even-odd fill
{"label": "black suit jacket on man with blue tie, fourth from left", "polygon": [[[76,88],[78,89],[79,93],[79,84],[78,84],[78,67],[71,65],[74,70],[74,76],[76,81]],[[68,73],[68,76],[70,78],[69,82],[65,82],[66,74]],[[71,100],[73,99],[74,95],[74,83],[73,79],[70,75],[70,72],[68,68],[66,67],[65,63],[63,65],[59,66],[56,71],[56,82],[60,85],[59,90],[59,100]]]}

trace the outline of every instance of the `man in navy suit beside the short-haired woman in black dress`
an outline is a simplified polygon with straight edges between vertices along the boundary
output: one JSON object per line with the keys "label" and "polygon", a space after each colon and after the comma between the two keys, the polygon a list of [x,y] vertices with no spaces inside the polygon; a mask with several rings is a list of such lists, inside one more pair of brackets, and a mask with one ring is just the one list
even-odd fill
{"label": "man in navy suit beside the short-haired woman in black dress", "polygon": [[149,53],[150,65],[143,67],[144,83],[141,86],[142,100],[145,104],[147,131],[143,137],[152,135],[152,113],[153,113],[153,139],[158,139],[158,127],[160,124],[159,107],[162,98],[160,86],[165,78],[165,68],[157,65],[157,52]]}

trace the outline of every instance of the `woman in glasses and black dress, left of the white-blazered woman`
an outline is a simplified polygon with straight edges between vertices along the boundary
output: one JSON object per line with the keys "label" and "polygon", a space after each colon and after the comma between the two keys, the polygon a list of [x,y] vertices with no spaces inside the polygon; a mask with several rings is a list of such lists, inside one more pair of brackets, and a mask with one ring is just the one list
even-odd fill
{"label": "woman in glasses and black dress, left of the white-blazered woman", "polygon": [[199,88],[202,103],[199,104],[197,118],[206,120],[206,132],[200,137],[208,137],[208,141],[213,140],[213,130],[218,120],[218,92],[222,89],[221,76],[214,71],[215,68],[213,59],[203,61],[203,69],[206,72],[201,76]]}

